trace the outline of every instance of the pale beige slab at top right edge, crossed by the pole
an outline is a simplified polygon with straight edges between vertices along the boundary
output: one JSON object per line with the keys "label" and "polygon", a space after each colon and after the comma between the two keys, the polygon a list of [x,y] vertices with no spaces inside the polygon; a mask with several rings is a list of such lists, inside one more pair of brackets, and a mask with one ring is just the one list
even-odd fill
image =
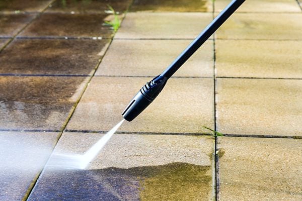
{"label": "pale beige slab at top right edge, crossed by the pole", "polygon": [[[215,12],[222,11],[230,0],[216,0]],[[245,1],[243,5],[236,11],[238,12],[301,12],[299,6],[292,0],[253,0]]]}

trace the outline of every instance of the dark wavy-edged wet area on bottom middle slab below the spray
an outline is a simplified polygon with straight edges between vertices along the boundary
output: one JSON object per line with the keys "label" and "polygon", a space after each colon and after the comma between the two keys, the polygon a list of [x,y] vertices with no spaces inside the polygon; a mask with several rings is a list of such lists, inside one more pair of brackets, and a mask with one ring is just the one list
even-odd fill
{"label": "dark wavy-edged wet area on bottom middle slab below the spray", "polygon": [[46,171],[29,200],[208,200],[209,171],[210,166],[179,162],[128,169]]}

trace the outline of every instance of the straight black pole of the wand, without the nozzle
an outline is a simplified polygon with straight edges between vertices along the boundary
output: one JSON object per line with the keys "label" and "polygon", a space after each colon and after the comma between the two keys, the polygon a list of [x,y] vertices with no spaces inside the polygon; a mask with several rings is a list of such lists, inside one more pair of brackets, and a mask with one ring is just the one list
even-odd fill
{"label": "straight black pole of the wand, without the nozzle", "polygon": [[162,72],[161,76],[169,79],[244,2],[245,0],[233,0],[172,62],[172,64]]}

